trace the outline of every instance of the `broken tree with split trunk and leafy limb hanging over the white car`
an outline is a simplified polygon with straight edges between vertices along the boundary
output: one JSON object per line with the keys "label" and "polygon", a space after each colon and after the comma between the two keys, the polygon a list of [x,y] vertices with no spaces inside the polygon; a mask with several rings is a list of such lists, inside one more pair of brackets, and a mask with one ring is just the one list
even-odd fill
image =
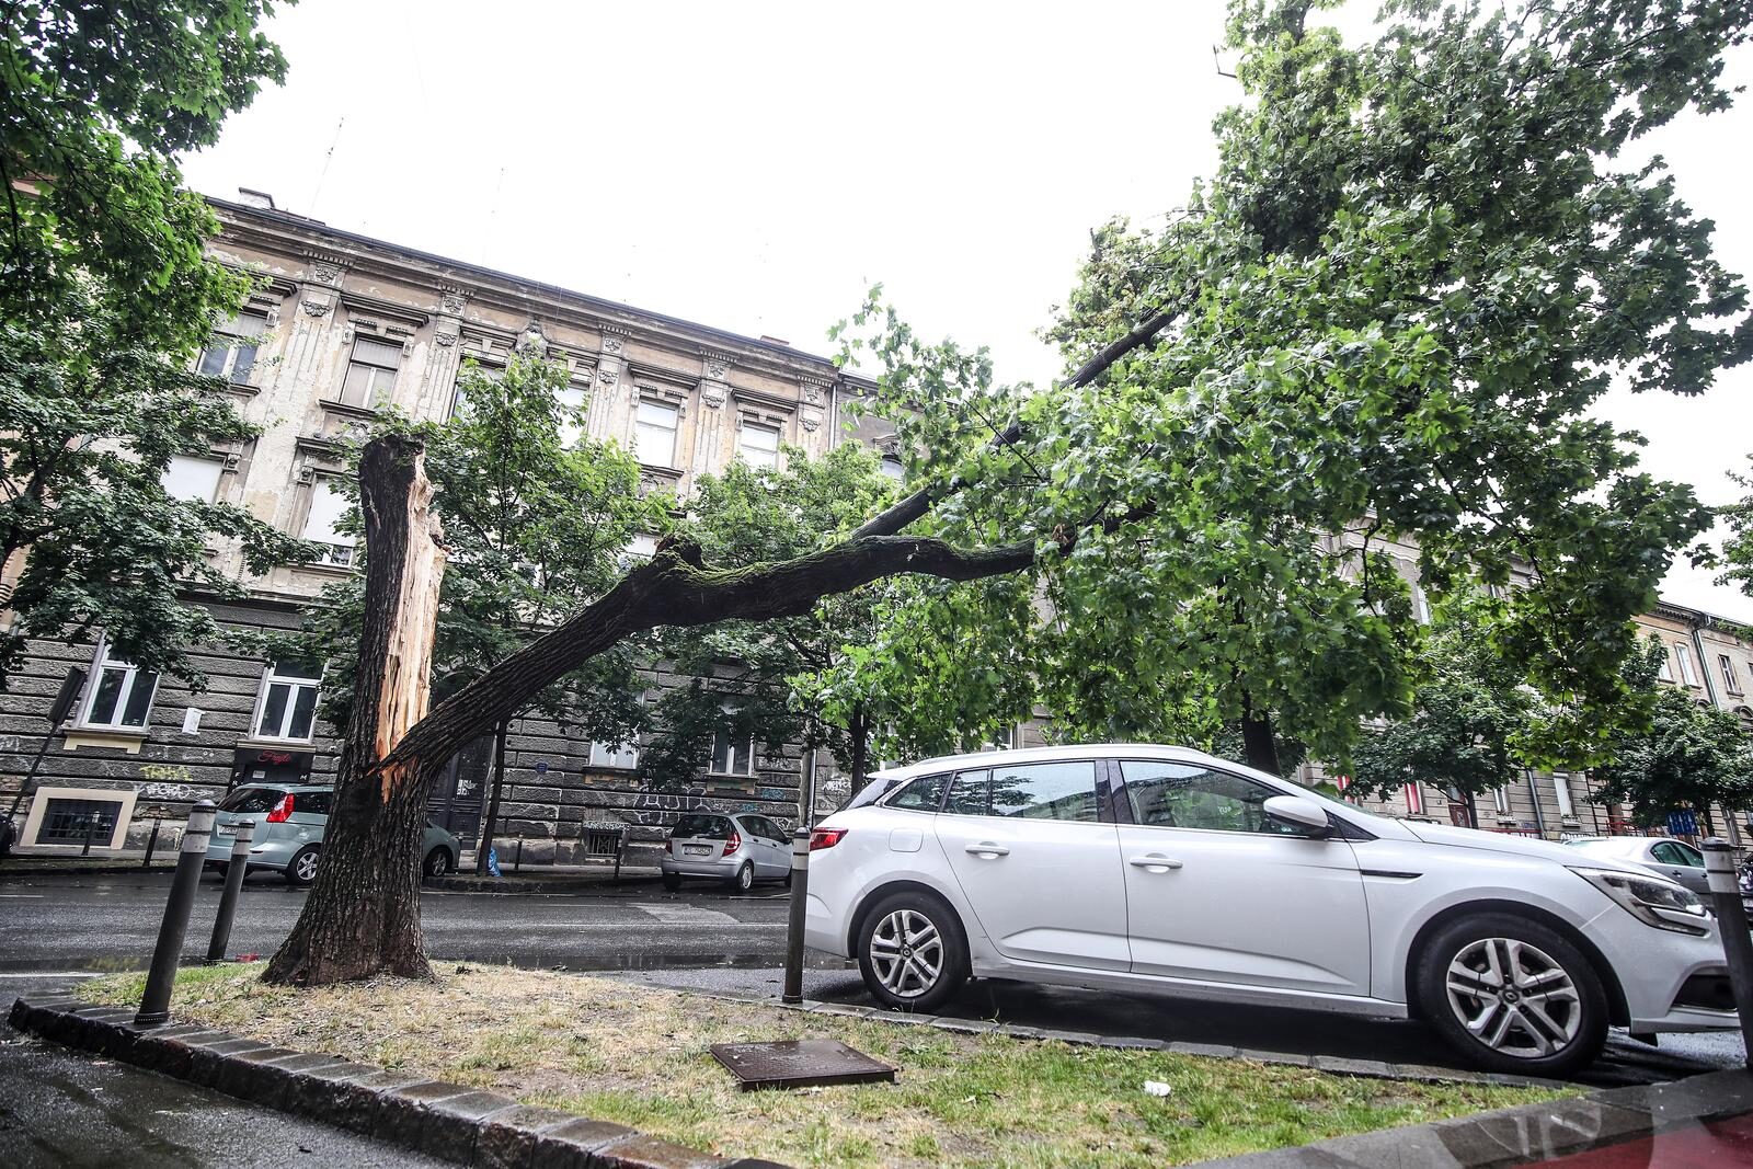
{"label": "broken tree with split trunk and leafy limb hanging over the white car", "polygon": [[[880,370],[876,407],[920,452],[910,496],[789,561],[671,547],[414,726],[417,701],[361,703],[351,827],[268,978],[426,973],[414,810],[528,694],[645,629],[799,615],[899,573],[1022,573],[1062,647],[1055,717],[1204,710],[1269,768],[1274,715],[1331,757],[1362,717],[1409,708],[1415,622],[1378,538],[1415,540],[1437,598],[1506,589],[1494,636],[1537,687],[1620,699],[1627,619],[1707,515],[1588,412],[1615,377],[1704,391],[1753,324],[1662,165],[1615,158],[1728,103],[1721,54],[1753,12],[1418,0],[1350,47],[1311,11],[1232,7],[1246,103],[1217,123],[1218,170],[1162,231],[1099,233],[1055,329],[1094,356],[1064,382],[994,386],[980,351],[880,305],[854,319],[848,356]],[[419,475],[384,456],[363,491],[417,584]],[[419,608],[398,571],[366,582],[361,692],[398,678],[379,647]],[[1108,685],[1061,677],[1092,662]]]}

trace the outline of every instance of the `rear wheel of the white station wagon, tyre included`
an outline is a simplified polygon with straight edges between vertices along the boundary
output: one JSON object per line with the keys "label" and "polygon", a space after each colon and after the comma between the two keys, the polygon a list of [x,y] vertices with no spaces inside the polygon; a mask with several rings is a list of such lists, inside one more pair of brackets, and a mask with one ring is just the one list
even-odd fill
{"label": "rear wheel of the white station wagon, tyre included", "polygon": [[950,906],[919,892],[889,894],[859,927],[859,971],[892,1011],[934,1011],[968,981],[968,941]]}

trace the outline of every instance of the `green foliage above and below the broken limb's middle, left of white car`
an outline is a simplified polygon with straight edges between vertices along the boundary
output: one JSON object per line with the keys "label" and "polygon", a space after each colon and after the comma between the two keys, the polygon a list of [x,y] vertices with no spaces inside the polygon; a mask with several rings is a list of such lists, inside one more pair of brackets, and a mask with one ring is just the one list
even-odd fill
{"label": "green foliage above and below the broken limb's middle, left of white car", "polygon": [[[819,459],[785,449],[784,470],[733,463],[701,475],[677,538],[698,543],[715,568],[778,563],[841,538],[892,496],[894,484],[862,447],[845,443]],[[768,750],[822,747],[841,769],[862,771],[871,710],[859,699],[827,701],[824,678],[878,634],[880,606],[899,587],[827,596],[805,617],[664,629],[657,655],[694,680],[652,705],[640,776],[652,787],[696,780],[719,733]]]}

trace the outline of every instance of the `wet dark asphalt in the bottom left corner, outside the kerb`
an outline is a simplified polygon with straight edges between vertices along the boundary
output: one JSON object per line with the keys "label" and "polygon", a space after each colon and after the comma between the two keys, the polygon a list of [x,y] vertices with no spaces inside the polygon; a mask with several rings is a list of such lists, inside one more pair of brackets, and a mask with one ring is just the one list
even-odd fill
{"label": "wet dark asphalt in the bottom left corner, outside the kerb", "polygon": [[[42,994],[65,980],[9,980]],[[74,1055],[0,1024],[0,1165],[7,1169],[438,1169],[445,1162],[252,1108],[124,1064]]]}

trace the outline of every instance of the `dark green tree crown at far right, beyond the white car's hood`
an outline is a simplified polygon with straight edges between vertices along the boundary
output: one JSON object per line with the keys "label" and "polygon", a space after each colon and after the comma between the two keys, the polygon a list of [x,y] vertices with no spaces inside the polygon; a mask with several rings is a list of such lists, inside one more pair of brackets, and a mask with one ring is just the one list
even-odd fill
{"label": "dark green tree crown at far right, beyond the white car's hood", "polygon": [[1664,824],[1681,808],[1746,806],[1753,801],[1753,734],[1727,710],[1657,682],[1665,654],[1651,638],[1627,671],[1648,717],[1613,736],[1613,761],[1593,771],[1600,797],[1630,804],[1643,824]]}

